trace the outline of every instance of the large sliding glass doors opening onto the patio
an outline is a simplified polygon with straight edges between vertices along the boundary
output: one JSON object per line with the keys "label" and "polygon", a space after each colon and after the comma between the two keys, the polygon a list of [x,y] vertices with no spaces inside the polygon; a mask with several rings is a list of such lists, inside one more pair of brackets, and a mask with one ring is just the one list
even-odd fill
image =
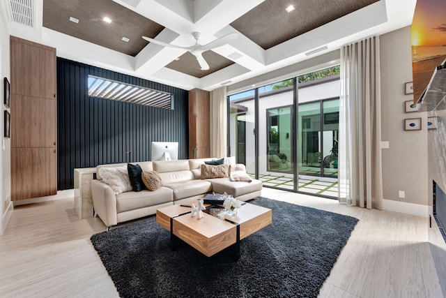
{"label": "large sliding glass doors opening onto the patio", "polygon": [[337,197],[338,73],[335,66],[229,96],[229,154],[263,186]]}

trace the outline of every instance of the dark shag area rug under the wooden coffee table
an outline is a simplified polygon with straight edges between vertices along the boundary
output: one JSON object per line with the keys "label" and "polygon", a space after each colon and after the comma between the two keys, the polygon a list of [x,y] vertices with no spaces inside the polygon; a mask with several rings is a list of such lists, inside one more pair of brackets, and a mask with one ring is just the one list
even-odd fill
{"label": "dark shag area rug under the wooden coffee table", "polygon": [[155,217],[94,234],[91,242],[121,297],[317,297],[357,218],[267,198],[272,224],[207,258],[170,235]]}

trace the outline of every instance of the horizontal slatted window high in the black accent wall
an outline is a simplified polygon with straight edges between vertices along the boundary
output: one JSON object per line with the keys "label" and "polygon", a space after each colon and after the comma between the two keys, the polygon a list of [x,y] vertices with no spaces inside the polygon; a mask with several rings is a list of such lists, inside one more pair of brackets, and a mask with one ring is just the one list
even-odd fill
{"label": "horizontal slatted window high in the black accent wall", "polygon": [[173,110],[172,94],[89,75],[89,96]]}

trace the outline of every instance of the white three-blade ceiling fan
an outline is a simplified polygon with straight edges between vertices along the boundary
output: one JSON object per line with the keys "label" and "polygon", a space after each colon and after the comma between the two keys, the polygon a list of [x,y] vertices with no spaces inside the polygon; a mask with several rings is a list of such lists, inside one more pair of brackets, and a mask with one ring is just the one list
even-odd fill
{"label": "white three-blade ceiling fan", "polygon": [[212,50],[212,49],[215,49],[216,47],[221,47],[222,45],[227,45],[228,43],[232,43],[233,40],[236,40],[236,38],[238,37],[238,33],[229,33],[225,36],[217,38],[214,41],[211,41],[210,43],[207,43],[206,45],[200,45],[198,43],[201,33],[192,32],[192,36],[194,36],[194,38],[195,38],[195,44],[190,47],[180,47],[179,45],[171,45],[170,43],[163,43],[162,41],[155,40],[153,38],[148,38],[146,36],[143,36],[142,38],[144,38],[145,40],[147,40],[151,43],[156,43],[157,45],[162,45],[164,47],[175,47],[177,49],[188,50],[191,54],[193,54],[195,57],[197,57],[197,61],[201,67],[200,69],[208,70],[209,65],[201,54],[207,50]]}

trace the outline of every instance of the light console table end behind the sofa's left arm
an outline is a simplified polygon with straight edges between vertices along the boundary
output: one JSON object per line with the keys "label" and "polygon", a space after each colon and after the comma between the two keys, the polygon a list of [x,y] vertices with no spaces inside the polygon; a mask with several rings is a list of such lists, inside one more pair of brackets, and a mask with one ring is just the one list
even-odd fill
{"label": "light console table end behind the sofa's left arm", "polygon": [[93,216],[90,181],[93,180],[95,172],[95,167],[75,169],[75,211],[79,218]]}

